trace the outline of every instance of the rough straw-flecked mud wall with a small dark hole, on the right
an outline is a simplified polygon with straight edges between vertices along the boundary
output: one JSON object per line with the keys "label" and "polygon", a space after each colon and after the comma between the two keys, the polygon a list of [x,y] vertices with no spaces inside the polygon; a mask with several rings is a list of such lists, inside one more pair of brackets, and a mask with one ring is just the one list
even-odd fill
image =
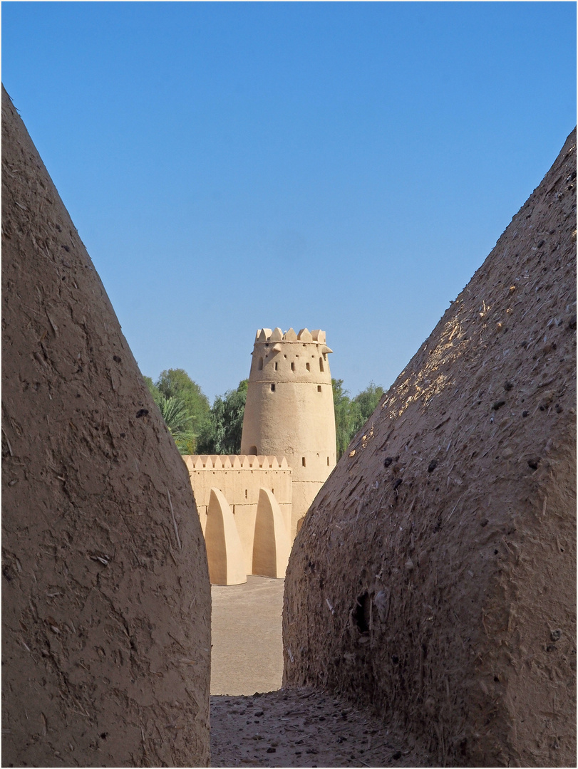
{"label": "rough straw-flecked mud wall with a small dark hole, on the right", "polygon": [[286,684],[438,765],[575,765],[575,345],[573,132],[313,503]]}

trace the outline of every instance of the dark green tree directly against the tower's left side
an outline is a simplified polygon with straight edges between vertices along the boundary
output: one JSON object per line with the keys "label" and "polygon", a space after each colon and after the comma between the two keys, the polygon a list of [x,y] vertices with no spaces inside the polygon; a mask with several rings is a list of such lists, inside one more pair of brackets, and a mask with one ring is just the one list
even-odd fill
{"label": "dark green tree directly against the tower's left side", "polygon": [[239,454],[248,381],[239,382],[236,390],[218,395],[212,404],[205,431],[199,439],[199,453]]}

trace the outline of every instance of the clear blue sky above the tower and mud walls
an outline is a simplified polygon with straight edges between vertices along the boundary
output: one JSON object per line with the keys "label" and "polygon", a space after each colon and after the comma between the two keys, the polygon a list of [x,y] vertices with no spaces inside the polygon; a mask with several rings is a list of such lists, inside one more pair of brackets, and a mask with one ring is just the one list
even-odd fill
{"label": "clear blue sky above the tower and mud walls", "polygon": [[143,374],[257,328],[388,387],[576,123],[574,2],[3,2],[2,80]]}

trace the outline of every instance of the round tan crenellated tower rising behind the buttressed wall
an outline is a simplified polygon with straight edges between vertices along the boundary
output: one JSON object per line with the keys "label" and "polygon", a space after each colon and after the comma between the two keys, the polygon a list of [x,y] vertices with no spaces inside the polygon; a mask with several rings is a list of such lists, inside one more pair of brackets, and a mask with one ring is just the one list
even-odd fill
{"label": "round tan crenellated tower rising behind the buttressed wall", "polygon": [[336,464],[330,352],[325,331],[306,328],[260,328],[252,352],[241,453],[286,456],[292,539]]}

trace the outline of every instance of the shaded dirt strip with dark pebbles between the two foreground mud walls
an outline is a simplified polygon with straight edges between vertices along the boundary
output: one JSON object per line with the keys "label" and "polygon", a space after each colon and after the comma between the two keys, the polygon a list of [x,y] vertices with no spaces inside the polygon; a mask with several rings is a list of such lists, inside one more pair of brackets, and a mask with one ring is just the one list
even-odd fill
{"label": "shaded dirt strip with dark pebbles between the two foreground mud walls", "polygon": [[423,756],[365,711],[312,689],[211,697],[213,767],[419,767]]}

